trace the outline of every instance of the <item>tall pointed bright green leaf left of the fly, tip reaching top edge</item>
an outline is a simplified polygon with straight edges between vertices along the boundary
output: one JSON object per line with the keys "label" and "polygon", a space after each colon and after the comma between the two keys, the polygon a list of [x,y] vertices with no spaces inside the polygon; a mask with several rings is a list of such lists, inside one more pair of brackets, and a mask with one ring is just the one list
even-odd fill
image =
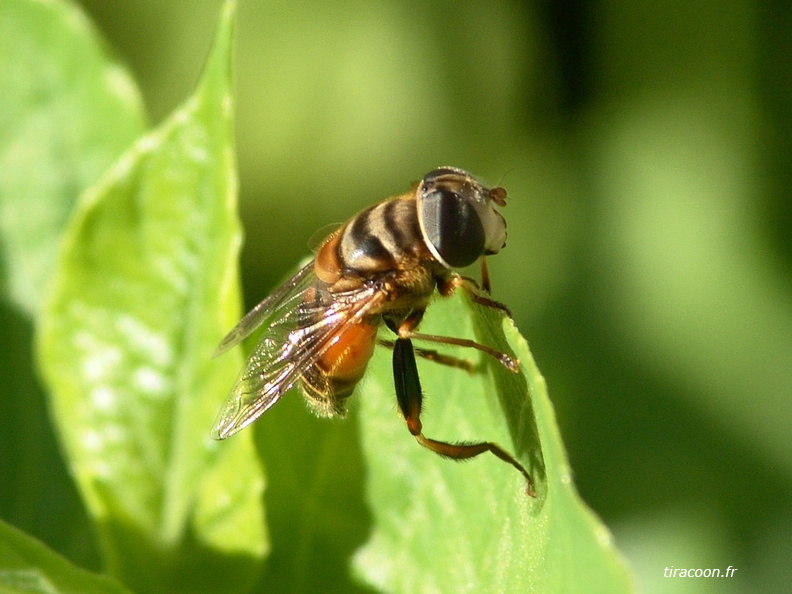
{"label": "tall pointed bright green leaf left of the fly, tip reaching top edge", "polygon": [[234,592],[267,549],[251,435],[209,431],[241,367],[226,4],[196,93],[83,196],[40,366],[108,570],[138,592]]}

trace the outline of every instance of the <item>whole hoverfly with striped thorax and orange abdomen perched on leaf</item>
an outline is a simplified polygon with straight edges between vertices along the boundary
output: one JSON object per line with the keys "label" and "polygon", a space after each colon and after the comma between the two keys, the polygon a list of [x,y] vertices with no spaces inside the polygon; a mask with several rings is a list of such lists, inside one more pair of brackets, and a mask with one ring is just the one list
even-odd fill
{"label": "whole hoverfly with striped thorax and orange abdomen perched on leaf", "polygon": [[[297,384],[317,415],[344,415],[345,401],[379,343],[393,349],[399,409],[418,443],[456,460],[491,452],[519,470],[533,494],[528,472],[499,445],[424,436],[415,353],[438,363],[470,366],[412,344],[418,340],[477,349],[519,371],[517,360],[488,346],[416,331],[435,290],[448,296],[462,288],[480,305],[509,314],[489,297],[484,259],[506,244],[506,221],[497,208],[505,204],[503,188],[487,188],[462,169],[441,167],[410,191],[359,212],[331,233],[310,263],[254,307],[220,343],[217,354],[266,325],[212,436],[225,439],[247,427]],[[483,290],[454,272],[479,259]],[[382,323],[394,340],[378,340]]]}

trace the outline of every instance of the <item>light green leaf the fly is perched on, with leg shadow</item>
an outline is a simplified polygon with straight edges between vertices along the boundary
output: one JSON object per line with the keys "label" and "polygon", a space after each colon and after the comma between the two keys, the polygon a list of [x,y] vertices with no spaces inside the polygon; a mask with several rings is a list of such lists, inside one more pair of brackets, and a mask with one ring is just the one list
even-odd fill
{"label": "light green leaf the fly is perched on, with leg shadow", "polygon": [[467,374],[418,362],[424,434],[446,441],[494,441],[529,469],[525,479],[495,456],[454,463],[420,447],[394,411],[389,353],[372,361],[362,392],[374,531],[354,568],[388,592],[625,592],[630,577],[611,536],[583,504],[555,424],[545,382],[510,320],[455,295],[429,308],[421,330],[476,337],[514,353],[522,373],[489,356]]}

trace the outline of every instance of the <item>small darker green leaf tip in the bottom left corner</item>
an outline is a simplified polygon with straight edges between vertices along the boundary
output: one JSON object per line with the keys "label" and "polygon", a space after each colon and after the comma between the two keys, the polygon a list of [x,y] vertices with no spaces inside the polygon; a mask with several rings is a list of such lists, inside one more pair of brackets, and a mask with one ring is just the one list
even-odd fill
{"label": "small darker green leaf tip in the bottom left corner", "polygon": [[120,584],[70,564],[40,542],[0,522],[0,592],[122,594]]}

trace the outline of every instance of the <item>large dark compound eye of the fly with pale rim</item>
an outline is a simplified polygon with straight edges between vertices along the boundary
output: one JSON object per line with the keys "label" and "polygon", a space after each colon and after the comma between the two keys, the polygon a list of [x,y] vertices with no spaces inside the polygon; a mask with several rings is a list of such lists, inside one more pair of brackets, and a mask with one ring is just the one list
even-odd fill
{"label": "large dark compound eye of the fly with pale rim", "polygon": [[469,200],[447,189],[423,195],[421,228],[441,260],[451,268],[473,264],[484,253],[484,226]]}

